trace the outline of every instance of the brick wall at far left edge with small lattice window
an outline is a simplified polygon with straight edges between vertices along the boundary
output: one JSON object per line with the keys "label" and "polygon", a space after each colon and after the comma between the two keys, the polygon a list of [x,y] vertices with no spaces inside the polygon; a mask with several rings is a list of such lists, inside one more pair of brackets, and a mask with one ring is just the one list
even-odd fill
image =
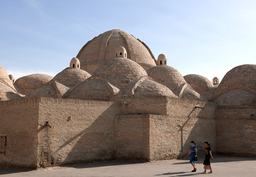
{"label": "brick wall at far left edge with small lattice window", "polygon": [[7,134],[0,166],[36,168],[38,99],[0,101],[0,134]]}

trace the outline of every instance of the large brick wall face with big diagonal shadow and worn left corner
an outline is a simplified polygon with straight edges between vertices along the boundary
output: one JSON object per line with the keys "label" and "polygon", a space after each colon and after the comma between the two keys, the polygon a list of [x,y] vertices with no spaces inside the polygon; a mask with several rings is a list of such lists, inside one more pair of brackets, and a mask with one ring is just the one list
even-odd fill
{"label": "large brick wall face with big diagonal shadow and worn left corner", "polygon": [[[113,159],[119,113],[120,103],[40,98],[38,167]],[[46,121],[54,128],[45,127]]]}

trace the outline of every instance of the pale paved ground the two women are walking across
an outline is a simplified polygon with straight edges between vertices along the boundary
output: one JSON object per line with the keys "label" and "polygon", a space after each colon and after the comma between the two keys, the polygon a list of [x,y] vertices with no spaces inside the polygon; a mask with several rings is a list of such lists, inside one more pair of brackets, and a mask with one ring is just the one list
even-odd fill
{"label": "pale paved ground the two women are walking across", "polygon": [[[138,161],[105,161],[86,164],[52,167],[46,169],[11,169],[0,168],[1,176],[86,176],[86,177],[171,177],[171,176],[256,176],[256,158],[226,157],[213,155],[211,160],[212,174],[202,174],[203,160],[196,163],[197,171],[193,170],[188,158],[138,162]],[[210,170],[207,170],[209,172]]]}

